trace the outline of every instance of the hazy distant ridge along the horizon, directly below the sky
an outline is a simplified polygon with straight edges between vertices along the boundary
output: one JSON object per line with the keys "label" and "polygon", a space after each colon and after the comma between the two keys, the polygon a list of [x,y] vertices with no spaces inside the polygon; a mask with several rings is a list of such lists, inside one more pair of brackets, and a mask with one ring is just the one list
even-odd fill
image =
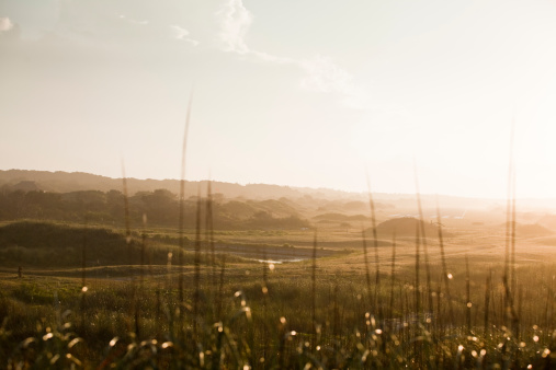
{"label": "hazy distant ridge along the horizon, directly below the sky", "polygon": [[[110,192],[112,189],[122,192],[122,178],[112,178],[94,175],[84,172],[49,172],[32,170],[0,170],[0,192],[23,192],[44,190],[53,193],[70,193],[80,190]],[[201,195],[206,195],[206,181],[186,181],[185,197],[196,196],[197,189]],[[139,180],[127,178],[127,190],[129,195],[138,192],[154,192],[156,189],[168,189],[173,194],[180,192],[179,180]],[[270,184],[235,184],[214,181],[212,186],[214,194],[220,194],[225,198],[243,198],[253,200],[285,198],[295,201],[296,207],[304,206],[313,208],[319,203],[319,212],[340,212],[345,215],[359,215],[368,212],[368,195],[365,193],[342,192],[329,188],[294,187]],[[410,213],[416,209],[415,194],[373,193],[375,208],[396,208],[407,210]],[[446,195],[421,195],[423,212],[435,215],[436,204],[440,204],[444,215],[447,209],[454,216],[464,215],[470,209],[489,209],[490,211],[503,212],[504,199],[481,199]],[[556,199],[520,199],[520,209],[527,208],[555,208]],[[396,211],[395,213],[399,213]]]}

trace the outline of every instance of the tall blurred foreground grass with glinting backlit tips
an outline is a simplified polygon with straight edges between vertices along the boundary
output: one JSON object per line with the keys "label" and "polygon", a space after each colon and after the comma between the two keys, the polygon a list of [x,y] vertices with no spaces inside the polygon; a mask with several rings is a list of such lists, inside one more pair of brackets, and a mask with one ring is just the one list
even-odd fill
{"label": "tall blurred foreground grass with glinting backlit tips", "polygon": [[[419,235],[420,227],[416,228]],[[317,243],[314,243],[314,251],[318,250]],[[197,282],[183,291],[185,308],[191,304],[193,309],[191,315],[183,315],[181,321],[172,315],[179,292],[177,281],[171,280],[181,269],[172,266],[171,259],[167,294],[159,294],[159,279],[149,276],[145,276],[144,289],[138,296],[126,281],[88,282],[93,289],[88,292],[86,312],[90,324],[87,336],[77,336],[71,326],[66,325],[71,323],[71,315],[60,316],[59,324],[48,325],[49,332],[46,331],[47,325],[43,325],[36,334],[31,333],[32,340],[21,342],[18,348],[10,347],[9,361],[29,361],[39,366],[50,363],[45,362],[45,358],[52,354],[48,360],[53,361],[52,366],[77,363],[73,360],[68,362],[71,358],[91,368],[99,365],[124,368],[242,368],[246,365],[253,368],[304,368],[307,363],[317,368],[492,368],[496,365],[502,368],[526,368],[529,365],[549,368],[553,363],[549,351],[554,349],[554,327],[549,316],[554,290],[549,285],[533,296],[542,298],[536,309],[531,305],[532,291],[525,289],[521,289],[521,293],[518,291],[515,301],[512,301],[513,294],[507,291],[510,285],[507,281],[492,284],[490,273],[476,274],[469,255],[463,274],[459,268],[459,276],[465,276],[465,281],[455,286],[454,299],[461,302],[454,308],[455,317],[442,309],[447,309],[451,298],[445,291],[441,294],[440,288],[435,294],[435,315],[415,315],[421,312],[418,302],[422,292],[419,293],[416,289],[418,285],[407,277],[408,273],[419,269],[419,264],[411,268],[413,271],[397,266],[396,238],[393,236],[389,276],[382,277],[385,281],[389,279],[389,284],[377,292],[386,304],[387,321],[382,323],[377,320],[377,308],[364,304],[367,310],[359,309],[361,298],[358,297],[365,297],[367,289],[364,271],[355,276],[319,274],[316,252],[314,256],[307,263],[300,263],[310,271],[305,281],[303,268],[284,266],[270,270],[263,263],[261,274],[258,265],[234,267],[234,264],[225,265],[220,259],[220,278],[216,286],[209,279],[201,280],[204,276],[202,271],[213,271],[212,262],[193,258],[190,264],[195,268],[190,271],[194,274],[193,281]],[[246,275],[246,268],[249,275]],[[444,276],[443,270],[436,287],[445,284]],[[500,275],[495,273],[495,276]],[[479,279],[480,284],[477,282]],[[82,281],[76,281],[75,286],[81,287]],[[273,287],[272,294],[261,286]],[[484,286],[480,292],[477,291],[478,286]],[[237,287],[241,287],[241,292],[235,298]],[[22,300],[31,302],[33,298],[37,301],[44,294],[38,290],[24,298],[29,289],[20,290]],[[45,297],[41,314],[54,319],[58,315],[56,312],[64,312],[63,305],[68,307],[71,299],[64,297],[63,290],[58,291],[59,309],[56,305],[48,309],[52,299]],[[413,297],[411,292],[415,292]],[[485,297],[483,308],[477,304],[480,294]],[[134,301],[134,297],[140,299]],[[216,302],[207,304],[207,298]],[[468,305],[468,302],[473,304]],[[496,316],[490,317],[489,313],[499,311],[497,308],[502,308],[503,312],[506,302],[515,308],[512,314],[520,317],[520,323],[524,317],[530,324],[522,324],[517,332],[498,325]],[[195,305],[197,309],[194,309]],[[10,317],[16,315],[16,311],[9,310]],[[213,314],[212,310],[217,312]],[[480,310],[484,310],[484,320],[478,323],[474,317]],[[125,322],[126,312],[131,311],[138,319],[131,331],[132,336],[127,335],[128,327],[121,325]],[[158,311],[166,314],[160,315]],[[533,328],[532,320],[535,317],[540,321]],[[30,319],[32,322],[33,317]],[[321,328],[317,322],[322,323]],[[178,331],[183,331],[185,335],[180,338]],[[73,339],[78,342],[68,348]],[[86,350],[87,346],[81,340],[93,349]],[[111,340],[114,345],[110,345]],[[106,350],[102,349],[102,343]],[[99,354],[104,354],[102,359],[94,360]],[[54,359],[56,355],[59,356]]]}

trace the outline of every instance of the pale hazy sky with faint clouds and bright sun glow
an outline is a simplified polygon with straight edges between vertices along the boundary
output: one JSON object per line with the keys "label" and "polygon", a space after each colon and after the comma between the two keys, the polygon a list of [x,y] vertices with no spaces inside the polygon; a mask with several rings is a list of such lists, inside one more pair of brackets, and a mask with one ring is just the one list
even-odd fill
{"label": "pale hazy sky with faint clouds and bright sun glow", "polygon": [[[556,197],[556,1],[0,0],[0,170]],[[513,147],[511,146],[513,128]],[[513,148],[512,150],[510,148]]]}

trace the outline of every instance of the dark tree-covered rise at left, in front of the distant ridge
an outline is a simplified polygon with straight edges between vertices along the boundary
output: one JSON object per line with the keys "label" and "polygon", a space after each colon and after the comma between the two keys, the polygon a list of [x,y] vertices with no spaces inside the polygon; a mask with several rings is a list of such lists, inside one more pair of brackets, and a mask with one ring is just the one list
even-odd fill
{"label": "dark tree-covered rise at left, in front of the distant ridge", "polygon": [[[307,228],[295,208],[281,200],[229,200],[213,198],[214,222],[220,229],[245,228]],[[185,228],[194,228],[196,210],[206,208],[206,198],[196,196],[184,200]],[[143,223],[146,215],[150,226],[177,227],[179,198],[167,189],[138,192],[128,197],[129,220]],[[0,220],[36,219],[100,224],[123,224],[125,195],[118,190],[82,190],[46,193],[41,190],[15,190],[0,193]]]}

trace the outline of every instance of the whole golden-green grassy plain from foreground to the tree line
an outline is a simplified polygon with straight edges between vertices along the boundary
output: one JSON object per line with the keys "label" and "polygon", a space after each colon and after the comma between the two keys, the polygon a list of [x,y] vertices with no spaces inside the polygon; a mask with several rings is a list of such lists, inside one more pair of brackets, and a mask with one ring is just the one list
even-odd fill
{"label": "whole golden-green grassy plain from foreground to the tree line", "polygon": [[450,279],[415,232],[185,230],[179,266],[177,230],[5,224],[2,366],[554,368],[552,236],[518,235],[503,284],[506,228],[444,223]]}

